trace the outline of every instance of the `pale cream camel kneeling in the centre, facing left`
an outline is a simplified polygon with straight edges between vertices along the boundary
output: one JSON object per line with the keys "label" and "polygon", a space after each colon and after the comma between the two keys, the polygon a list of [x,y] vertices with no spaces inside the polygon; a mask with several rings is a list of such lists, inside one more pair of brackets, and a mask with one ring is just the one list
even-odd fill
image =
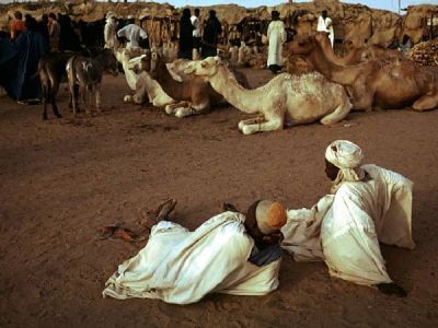
{"label": "pale cream camel kneeling in the centre, facing left", "polygon": [[283,73],[255,90],[240,85],[219,57],[192,61],[185,72],[208,81],[239,110],[262,116],[239,122],[239,130],[244,134],[281,130],[285,124],[318,119],[323,125],[333,125],[344,119],[351,108],[344,87],[318,72],[301,77]]}

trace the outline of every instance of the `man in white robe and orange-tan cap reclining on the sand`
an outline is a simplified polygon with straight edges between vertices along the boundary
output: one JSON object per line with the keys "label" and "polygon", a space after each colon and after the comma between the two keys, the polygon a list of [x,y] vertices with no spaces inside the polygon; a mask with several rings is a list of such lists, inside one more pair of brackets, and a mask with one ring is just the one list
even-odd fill
{"label": "man in white robe and orange-tan cap reclining on the sand", "polygon": [[212,292],[264,295],[277,289],[286,223],[280,203],[256,201],[246,215],[224,204],[226,212],[194,232],[166,221],[175,204],[171,199],[159,207],[148,244],[118,267],[104,296],[188,304]]}

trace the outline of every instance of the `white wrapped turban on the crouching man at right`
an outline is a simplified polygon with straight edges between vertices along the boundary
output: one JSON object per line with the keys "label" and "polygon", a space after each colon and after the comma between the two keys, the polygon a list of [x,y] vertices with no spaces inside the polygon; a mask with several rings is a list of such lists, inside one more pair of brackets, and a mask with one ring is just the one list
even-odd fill
{"label": "white wrapped turban on the crouching man at right", "polygon": [[332,192],[341,187],[344,181],[359,181],[365,173],[360,168],[364,160],[362,150],[356,143],[348,140],[333,141],[325,150],[325,159],[339,168],[333,183]]}

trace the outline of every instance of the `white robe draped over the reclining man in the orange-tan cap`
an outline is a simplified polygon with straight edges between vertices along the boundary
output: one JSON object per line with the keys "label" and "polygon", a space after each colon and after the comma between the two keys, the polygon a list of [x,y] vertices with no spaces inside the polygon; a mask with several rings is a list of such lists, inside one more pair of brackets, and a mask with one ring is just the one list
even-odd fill
{"label": "white robe draped over the reclining man in the orange-tan cap", "polygon": [[194,232],[160,222],[145,248],[108,279],[103,295],[188,304],[212,292],[263,295],[274,291],[280,259],[263,267],[249,262],[254,241],[243,222],[244,216],[234,212],[218,214]]}

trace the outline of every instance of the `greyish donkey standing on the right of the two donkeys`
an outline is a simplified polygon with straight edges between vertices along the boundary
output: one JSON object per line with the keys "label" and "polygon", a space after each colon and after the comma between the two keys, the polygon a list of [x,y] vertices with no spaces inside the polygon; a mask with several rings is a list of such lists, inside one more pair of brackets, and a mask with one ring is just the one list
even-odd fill
{"label": "greyish donkey standing on the right of the two donkeys", "polygon": [[94,58],[73,56],[68,60],[66,70],[73,104],[73,116],[78,112],[78,92],[76,85],[79,85],[79,93],[82,95],[87,114],[91,113],[88,97],[93,91],[95,92],[96,110],[101,112],[102,75],[104,72],[110,72],[114,77],[118,73],[118,63],[113,50],[104,49]]}

